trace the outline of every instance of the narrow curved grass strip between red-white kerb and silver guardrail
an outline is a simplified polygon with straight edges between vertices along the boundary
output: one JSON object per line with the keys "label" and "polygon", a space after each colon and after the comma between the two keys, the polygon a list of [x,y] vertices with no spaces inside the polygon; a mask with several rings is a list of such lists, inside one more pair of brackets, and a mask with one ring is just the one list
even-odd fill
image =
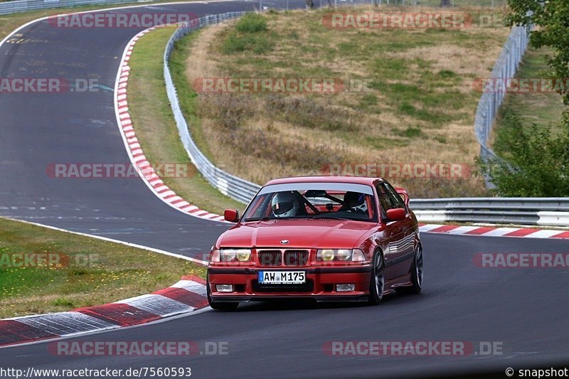
{"label": "narrow curved grass strip between red-white kerb and silver guardrail", "polygon": [[[162,178],[179,196],[213,213],[223,214],[226,208],[243,210],[243,204],[224,196],[196,172],[181,143],[164,87],[162,66],[164,47],[173,31],[159,28],[148,33],[137,42],[129,60],[128,102],[137,138],[151,164],[191,167],[188,177]],[[188,100],[184,92],[179,97],[182,102]]]}

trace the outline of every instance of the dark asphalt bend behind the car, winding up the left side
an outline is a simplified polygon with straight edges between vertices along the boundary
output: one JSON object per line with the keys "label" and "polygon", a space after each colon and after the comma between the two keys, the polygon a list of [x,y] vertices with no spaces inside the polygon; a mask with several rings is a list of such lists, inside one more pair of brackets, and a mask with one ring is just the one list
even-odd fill
{"label": "dark asphalt bend behind the car, winding up the left side", "polygon": [[[226,1],[110,13],[204,16],[255,5]],[[0,78],[90,78],[114,88],[124,47],[141,30],[55,28],[38,21],[18,32],[23,36],[14,39],[23,43],[0,47]],[[48,176],[50,164],[129,162],[110,90],[0,93],[0,120],[0,215],[200,258],[227,228],[166,206],[137,178]]]}

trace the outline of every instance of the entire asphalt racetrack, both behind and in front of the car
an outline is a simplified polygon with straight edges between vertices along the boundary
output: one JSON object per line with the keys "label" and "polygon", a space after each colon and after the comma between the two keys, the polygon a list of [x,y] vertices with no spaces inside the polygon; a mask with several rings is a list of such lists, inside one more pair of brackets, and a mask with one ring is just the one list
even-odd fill
{"label": "entire asphalt racetrack, both behind and in front of the car", "polygon": [[[264,1],[264,5],[269,5]],[[251,9],[220,2],[148,6],[156,12],[217,14]],[[127,9],[125,11],[142,11]],[[26,27],[25,43],[0,48],[0,77],[85,78],[114,87],[122,50],[136,29]],[[26,42],[27,41],[27,42]],[[53,162],[127,162],[112,92],[0,94],[0,215],[149,245],[184,255],[208,250],[227,228],[170,208],[137,179],[52,179]],[[422,294],[380,306],[250,304],[78,341],[220,341],[226,356],[65,357],[47,343],[0,350],[1,367],[189,366],[201,377],[382,377],[440,375],[568,364],[567,269],[482,269],[477,252],[568,252],[566,240],[422,234]],[[497,341],[501,356],[327,356],[327,341]]]}

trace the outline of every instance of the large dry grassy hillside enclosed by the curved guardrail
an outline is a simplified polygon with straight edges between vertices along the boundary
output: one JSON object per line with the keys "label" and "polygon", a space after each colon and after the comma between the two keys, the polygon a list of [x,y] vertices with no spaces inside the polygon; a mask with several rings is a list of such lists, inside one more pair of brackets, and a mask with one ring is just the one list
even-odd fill
{"label": "large dry grassy hillside enclosed by the curved guardrail", "polygon": [[[429,11],[382,11],[410,9]],[[174,80],[188,87],[182,108],[198,146],[218,166],[256,183],[322,174],[328,164],[472,166],[481,95],[473,82],[489,75],[509,29],[332,29],[321,22],[344,11],[358,10],[271,11],[257,16],[266,27],[251,18],[179,41],[172,66],[184,54],[186,78],[175,70]],[[487,9],[459,11],[476,18]],[[193,85],[203,78],[340,78],[365,80],[368,90],[196,95]],[[482,180],[469,175],[386,178],[413,197],[486,194]]]}

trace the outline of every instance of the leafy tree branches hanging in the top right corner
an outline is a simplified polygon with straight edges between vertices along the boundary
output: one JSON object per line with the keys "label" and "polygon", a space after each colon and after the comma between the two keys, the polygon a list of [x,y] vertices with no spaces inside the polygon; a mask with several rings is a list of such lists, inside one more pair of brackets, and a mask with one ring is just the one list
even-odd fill
{"label": "leafy tree branches hanging in the top right corner", "polygon": [[[508,26],[538,26],[531,32],[530,43],[535,48],[548,46],[555,53],[548,56],[552,79],[569,78],[569,1],[567,0],[508,0],[511,13],[506,16]],[[569,105],[569,88],[555,86],[563,102]]]}

